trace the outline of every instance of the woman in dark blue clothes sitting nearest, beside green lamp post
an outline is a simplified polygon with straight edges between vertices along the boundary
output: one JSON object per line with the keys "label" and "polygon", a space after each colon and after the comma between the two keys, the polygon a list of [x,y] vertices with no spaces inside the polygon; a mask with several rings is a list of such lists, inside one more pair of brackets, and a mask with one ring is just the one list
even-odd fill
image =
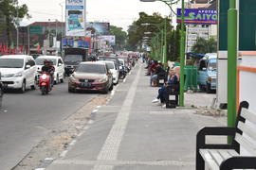
{"label": "woman in dark blue clothes sitting nearest, beside green lamp post", "polygon": [[167,93],[166,91],[166,87],[168,85],[172,85],[172,84],[178,84],[178,77],[175,75],[174,69],[170,70],[170,77],[168,79],[168,82],[165,83],[164,86],[162,86],[159,90],[158,90],[158,95],[157,97],[152,101],[152,103],[158,103],[159,105],[162,105],[163,107],[165,106],[165,94]]}

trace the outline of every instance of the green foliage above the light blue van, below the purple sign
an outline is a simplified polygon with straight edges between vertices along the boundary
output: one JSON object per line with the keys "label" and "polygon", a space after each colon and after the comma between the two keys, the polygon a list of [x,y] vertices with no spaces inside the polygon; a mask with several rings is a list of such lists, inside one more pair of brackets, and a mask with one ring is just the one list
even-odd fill
{"label": "green foliage above the light blue van, below the purple sign", "polygon": [[198,54],[216,53],[217,42],[213,38],[210,38],[210,40],[198,38],[192,46],[192,52]]}

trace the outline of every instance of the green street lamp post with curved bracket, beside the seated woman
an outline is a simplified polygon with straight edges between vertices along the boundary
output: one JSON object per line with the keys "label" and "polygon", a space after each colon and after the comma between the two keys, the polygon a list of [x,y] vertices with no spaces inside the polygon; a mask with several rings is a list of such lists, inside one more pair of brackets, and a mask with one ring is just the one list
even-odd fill
{"label": "green street lamp post with curved bracket, beside the seated woman", "polygon": [[[141,2],[155,2],[160,1],[165,3],[173,12],[174,9],[172,6],[176,4],[179,0],[140,0]],[[184,107],[184,67],[185,67],[185,24],[184,24],[184,13],[185,13],[185,0],[181,0],[181,8],[182,8],[182,22],[181,22],[181,42],[180,42],[180,80],[179,80],[179,106]],[[230,0],[235,1],[235,0]],[[174,12],[174,14],[176,14]]]}

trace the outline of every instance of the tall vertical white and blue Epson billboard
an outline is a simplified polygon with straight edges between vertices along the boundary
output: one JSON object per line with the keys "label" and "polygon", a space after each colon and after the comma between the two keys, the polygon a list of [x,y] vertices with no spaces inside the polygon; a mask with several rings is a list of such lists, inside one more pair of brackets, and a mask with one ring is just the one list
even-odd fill
{"label": "tall vertical white and blue Epson billboard", "polygon": [[85,34],[85,0],[65,0],[66,36]]}

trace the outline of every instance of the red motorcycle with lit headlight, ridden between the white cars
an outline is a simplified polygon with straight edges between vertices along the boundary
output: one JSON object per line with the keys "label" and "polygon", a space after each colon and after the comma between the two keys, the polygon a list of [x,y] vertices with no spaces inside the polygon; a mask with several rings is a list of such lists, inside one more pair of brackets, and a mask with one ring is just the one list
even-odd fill
{"label": "red motorcycle with lit headlight, ridden between the white cars", "polygon": [[44,72],[40,75],[39,88],[42,95],[48,94],[51,91],[50,75],[48,73]]}

